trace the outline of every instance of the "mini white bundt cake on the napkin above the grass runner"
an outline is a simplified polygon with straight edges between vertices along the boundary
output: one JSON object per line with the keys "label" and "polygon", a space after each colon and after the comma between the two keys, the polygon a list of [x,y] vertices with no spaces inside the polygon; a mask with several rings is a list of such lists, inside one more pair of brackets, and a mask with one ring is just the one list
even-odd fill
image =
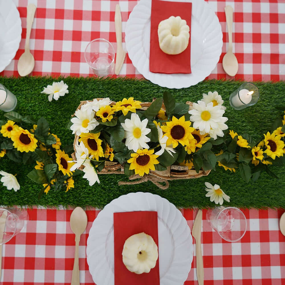
{"label": "mini white bundt cake on the napkin above the grass runner", "polygon": [[180,54],[189,43],[189,26],[179,16],[171,16],[158,25],[160,49],[167,54]]}

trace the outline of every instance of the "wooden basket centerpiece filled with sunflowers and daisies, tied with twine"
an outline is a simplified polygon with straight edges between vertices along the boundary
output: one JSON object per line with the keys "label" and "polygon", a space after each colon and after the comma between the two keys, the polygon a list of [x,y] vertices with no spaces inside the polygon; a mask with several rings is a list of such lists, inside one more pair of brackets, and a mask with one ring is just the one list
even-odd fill
{"label": "wooden basket centerpiece filled with sunflowers and daisies, tied with twine", "polygon": [[[89,155],[94,152],[99,154],[97,156],[99,159],[95,159],[95,156],[93,156],[94,160],[91,160],[97,174],[126,174],[129,176],[131,181],[120,181],[119,185],[139,184],[150,180],[159,188],[167,189],[169,186],[168,180],[199,178],[209,174],[211,171],[209,167],[198,168],[199,164],[195,161],[195,168],[193,165],[193,160],[196,157],[194,155],[197,155],[198,152],[199,157],[203,158],[202,146],[210,144],[213,139],[208,134],[200,135],[199,130],[190,127],[193,123],[189,121],[190,114],[188,111],[193,109],[192,102],[176,103],[167,91],[164,93],[163,100],[162,98],[154,98],[152,102],[142,103],[133,100],[133,98],[123,99],[119,102],[110,100],[107,102],[106,99],[109,98],[82,101],[72,116],[76,117],[78,110],[84,113],[90,113],[90,110],[92,110],[92,114],[97,120],[96,127],[89,132],[87,131],[87,133],[82,132],[77,135],[78,132],[76,134],[73,129],[75,133],[75,152],[72,154],[72,158],[75,161],[77,159],[76,146],[79,145],[80,141],[84,141],[82,139],[84,137],[84,145],[86,146],[87,142],[88,146],[86,147],[89,150]],[[102,106],[100,102],[109,104],[105,106],[103,104]],[[82,106],[84,107],[82,108]],[[88,119],[87,121],[85,121],[85,125],[90,122]],[[82,123],[83,125],[84,123]],[[128,138],[130,136],[128,128],[133,127],[134,129],[139,125],[142,126],[141,129],[137,127],[137,133],[133,131],[135,139],[133,137]],[[177,133],[174,132],[174,129]],[[137,144],[135,141],[136,139],[137,141],[139,139],[143,140],[143,134],[146,135],[141,145],[148,146],[148,148],[139,147],[136,150]],[[166,138],[164,138],[165,136]],[[168,136],[171,137],[170,140]],[[209,139],[211,140],[209,141]],[[102,148],[101,152],[99,152],[99,148]],[[211,146],[205,149],[208,151],[209,148]],[[138,154],[141,149],[146,154]],[[138,156],[133,158],[133,164],[137,165],[138,168],[132,167],[130,161],[135,155]],[[142,156],[145,158],[144,161]],[[135,164],[139,162],[138,157],[143,161],[139,166]],[[153,165],[149,166],[148,170],[145,168],[142,170],[150,162],[153,162]],[[207,163],[205,165],[209,166]],[[153,169],[154,167],[155,169]],[[83,168],[84,165],[81,165],[78,169],[83,170]]]}

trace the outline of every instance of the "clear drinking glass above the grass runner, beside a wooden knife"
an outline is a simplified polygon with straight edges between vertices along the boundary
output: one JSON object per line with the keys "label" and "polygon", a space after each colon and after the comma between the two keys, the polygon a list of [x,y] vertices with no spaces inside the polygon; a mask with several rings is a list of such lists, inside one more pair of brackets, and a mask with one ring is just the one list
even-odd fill
{"label": "clear drinking glass above the grass runner, beside a wooden knife", "polygon": [[115,50],[110,42],[96,38],[87,44],[84,57],[97,76],[111,76],[115,69]]}

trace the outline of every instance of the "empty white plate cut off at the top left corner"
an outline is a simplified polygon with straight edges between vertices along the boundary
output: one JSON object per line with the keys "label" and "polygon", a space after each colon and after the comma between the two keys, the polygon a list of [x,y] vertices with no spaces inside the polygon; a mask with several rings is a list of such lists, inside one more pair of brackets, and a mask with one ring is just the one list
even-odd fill
{"label": "empty white plate cut off at the top left corner", "polygon": [[13,0],[0,0],[0,72],[10,64],[19,48],[22,22]]}

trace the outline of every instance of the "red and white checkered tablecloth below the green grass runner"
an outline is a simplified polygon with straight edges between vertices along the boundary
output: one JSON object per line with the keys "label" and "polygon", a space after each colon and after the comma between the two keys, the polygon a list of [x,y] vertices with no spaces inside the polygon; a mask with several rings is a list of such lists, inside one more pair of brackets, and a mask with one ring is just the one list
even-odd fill
{"label": "red and white checkered tablecloth below the green grass runner", "polygon": [[[203,210],[202,253],[205,285],[284,285],[285,237],[279,230],[284,210],[242,210],[247,232],[238,242],[229,243],[211,229]],[[192,229],[196,210],[182,213]],[[70,228],[72,210],[29,209],[24,229],[3,245],[3,285],[70,284],[75,241]],[[86,244],[98,210],[86,211],[88,225],[79,246],[80,284],[94,284],[86,260]],[[98,260],[100,262],[100,260]],[[196,248],[184,285],[198,284]],[[100,284],[97,284],[100,285]]]}

